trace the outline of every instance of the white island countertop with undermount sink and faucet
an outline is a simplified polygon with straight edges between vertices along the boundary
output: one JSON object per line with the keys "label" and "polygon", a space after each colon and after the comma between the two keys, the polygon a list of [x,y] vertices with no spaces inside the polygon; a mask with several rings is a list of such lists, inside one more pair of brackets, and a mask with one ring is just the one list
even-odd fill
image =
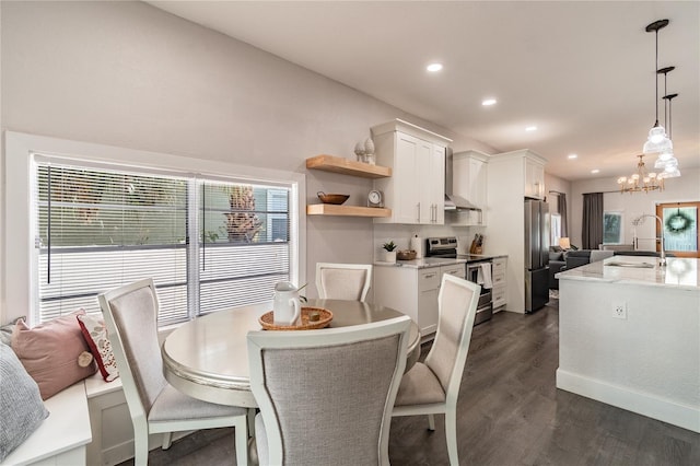
{"label": "white island countertop with undermount sink and faucet", "polygon": [[[612,264],[621,264],[622,267]],[[561,271],[557,273],[556,277],[559,280],[598,281],[699,290],[699,265],[700,259],[686,257],[667,257],[666,267],[661,267],[658,266],[657,257],[612,256],[605,260],[598,260],[571,270]]]}

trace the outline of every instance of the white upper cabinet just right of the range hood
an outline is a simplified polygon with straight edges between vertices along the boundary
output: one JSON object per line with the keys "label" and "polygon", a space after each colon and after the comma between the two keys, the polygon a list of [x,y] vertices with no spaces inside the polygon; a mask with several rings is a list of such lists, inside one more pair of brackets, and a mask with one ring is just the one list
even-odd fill
{"label": "white upper cabinet just right of the range hood", "polygon": [[479,151],[453,154],[452,194],[460,196],[481,210],[456,210],[450,212],[451,224],[486,226],[488,210],[488,160]]}

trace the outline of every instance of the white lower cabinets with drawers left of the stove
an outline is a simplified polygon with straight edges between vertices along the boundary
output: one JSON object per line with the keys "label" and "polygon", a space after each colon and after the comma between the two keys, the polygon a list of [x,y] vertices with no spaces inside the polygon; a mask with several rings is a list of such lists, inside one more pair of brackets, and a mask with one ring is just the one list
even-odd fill
{"label": "white lower cabinets with drawers left of the stove", "polygon": [[410,316],[422,340],[433,337],[438,330],[438,295],[442,275],[465,277],[465,265],[454,264],[430,268],[374,267],[375,304],[395,308]]}

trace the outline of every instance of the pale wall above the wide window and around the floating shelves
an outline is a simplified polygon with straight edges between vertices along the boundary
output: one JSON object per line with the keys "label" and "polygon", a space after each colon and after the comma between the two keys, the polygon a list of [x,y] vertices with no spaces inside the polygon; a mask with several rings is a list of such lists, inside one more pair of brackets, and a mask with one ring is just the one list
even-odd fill
{"label": "pale wall above the wide window and around the floating shelves", "polygon": [[[1,2],[0,9],[3,130],[305,173],[308,201],[324,190],[350,194],[349,205],[364,203],[370,180],[307,172],[304,161],[319,153],[354,158],[371,126],[400,117],[453,139],[456,150],[493,152],[145,3]],[[1,179],[2,196],[11,196]],[[310,217],[307,245],[313,282],[317,261],[372,260],[372,221]],[[0,322],[3,277],[12,268],[3,266]]]}

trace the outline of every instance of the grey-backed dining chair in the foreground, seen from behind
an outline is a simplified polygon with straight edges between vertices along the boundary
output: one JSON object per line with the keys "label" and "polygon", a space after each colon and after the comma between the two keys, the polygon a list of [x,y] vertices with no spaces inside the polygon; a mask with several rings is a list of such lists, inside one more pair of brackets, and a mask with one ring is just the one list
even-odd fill
{"label": "grey-backed dining chair in the foreground, seen from behind", "polygon": [[323,330],[250,331],[261,465],[388,465],[392,407],[410,318]]}

